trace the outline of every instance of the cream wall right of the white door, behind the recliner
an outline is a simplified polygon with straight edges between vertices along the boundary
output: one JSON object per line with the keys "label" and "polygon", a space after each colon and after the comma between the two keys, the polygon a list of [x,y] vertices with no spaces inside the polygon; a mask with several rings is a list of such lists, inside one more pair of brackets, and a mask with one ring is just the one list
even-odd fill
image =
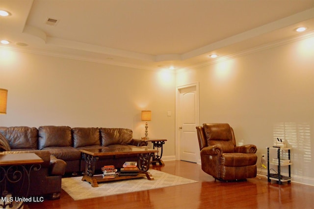
{"label": "cream wall right of the white door, behind the recliner", "polygon": [[313,36],[177,75],[177,86],[193,82],[200,125],[229,123],[238,144],[258,147],[259,167],[266,147],[287,139],[293,180],[314,185]]}

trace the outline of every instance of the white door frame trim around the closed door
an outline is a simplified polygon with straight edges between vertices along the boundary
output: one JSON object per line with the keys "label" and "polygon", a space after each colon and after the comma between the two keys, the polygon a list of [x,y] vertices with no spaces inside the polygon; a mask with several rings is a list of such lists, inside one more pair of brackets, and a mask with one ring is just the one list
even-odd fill
{"label": "white door frame trim around the closed door", "polygon": [[[180,108],[180,90],[188,87],[196,87],[196,107],[197,107],[197,113],[196,113],[196,123],[199,124],[199,83],[190,83],[190,84],[185,84],[185,85],[180,85],[176,86],[176,125],[175,125],[175,137],[176,137],[176,144],[175,144],[175,155],[176,155],[176,160],[180,160],[180,151],[181,151],[181,138],[180,138],[180,113],[179,113],[179,108]],[[199,161],[199,160],[198,160]]]}

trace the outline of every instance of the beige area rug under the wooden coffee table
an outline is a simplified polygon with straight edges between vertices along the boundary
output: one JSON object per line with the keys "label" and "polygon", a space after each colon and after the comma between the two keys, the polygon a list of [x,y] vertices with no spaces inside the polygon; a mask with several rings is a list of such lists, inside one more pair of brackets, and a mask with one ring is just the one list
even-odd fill
{"label": "beige area rug under the wooden coffee table", "polygon": [[140,179],[99,183],[99,187],[92,187],[90,183],[81,181],[82,177],[63,178],[62,189],[74,200],[83,200],[197,182],[157,170],[149,170],[149,172],[153,175],[154,181],[149,181],[146,177],[143,177]]}

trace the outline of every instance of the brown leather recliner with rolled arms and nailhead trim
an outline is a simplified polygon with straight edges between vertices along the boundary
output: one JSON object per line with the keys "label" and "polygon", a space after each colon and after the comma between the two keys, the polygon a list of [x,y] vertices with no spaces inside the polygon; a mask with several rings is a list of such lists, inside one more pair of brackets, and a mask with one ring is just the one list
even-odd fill
{"label": "brown leather recliner with rolled arms and nailhead trim", "polygon": [[236,146],[235,134],[229,124],[206,123],[196,129],[204,172],[224,181],[256,177],[256,146]]}

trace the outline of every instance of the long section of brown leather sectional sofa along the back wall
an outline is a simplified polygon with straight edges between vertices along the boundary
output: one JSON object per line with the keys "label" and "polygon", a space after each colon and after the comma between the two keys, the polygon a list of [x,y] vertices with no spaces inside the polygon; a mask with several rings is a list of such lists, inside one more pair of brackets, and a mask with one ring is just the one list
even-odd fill
{"label": "long section of brown leather sectional sofa along the back wall", "polygon": [[[64,160],[67,163],[65,173],[85,170],[85,161],[79,149],[147,145],[145,140],[133,139],[132,130],[122,128],[0,127],[0,133],[7,138],[12,151],[47,150],[57,159]],[[130,157],[104,158],[97,164],[101,165],[105,160],[105,164],[110,162],[121,167],[125,161],[131,160]],[[137,160],[137,156],[134,157]]]}

